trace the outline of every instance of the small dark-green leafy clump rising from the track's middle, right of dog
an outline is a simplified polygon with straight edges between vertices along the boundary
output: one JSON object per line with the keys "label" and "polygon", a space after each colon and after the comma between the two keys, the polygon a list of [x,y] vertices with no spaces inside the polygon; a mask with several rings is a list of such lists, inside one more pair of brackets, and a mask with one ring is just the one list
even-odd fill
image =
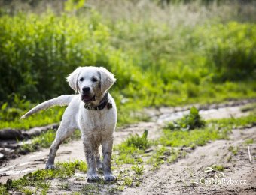
{"label": "small dark-green leafy clump rising from the track's middle, right of dog", "polygon": [[184,117],[178,119],[177,121],[170,122],[166,129],[187,131],[204,127],[205,124],[206,121],[201,118],[197,108],[191,107],[188,115],[184,115]]}

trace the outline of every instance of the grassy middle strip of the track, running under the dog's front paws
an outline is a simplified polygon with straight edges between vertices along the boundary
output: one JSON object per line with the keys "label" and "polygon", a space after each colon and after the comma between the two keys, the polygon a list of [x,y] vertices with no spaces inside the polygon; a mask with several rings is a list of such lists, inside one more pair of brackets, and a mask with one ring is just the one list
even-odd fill
{"label": "grassy middle strip of the track, running under the dog's front paws", "polygon": [[[193,151],[195,147],[206,145],[207,142],[216,139],[228,139],[232,129],[248,127],[256,122],[255,115],[210,121],[200,119],[199,123],[194,123],[194,127],[191,128],[189,118],[199,119],[200,115],[193,114],[192,111],[184,118],[167,124],[160,139],[148,139],[148,132],[145,130],[142,136],[130,136],[120,145],[114,146],[112,166],[114,173],[117,174],[117,183],[106,184],[101,180],[96,184],[87,184],[84,177],[75,176],[87,172],[86,163],[75,161],[58,163],[56,170],[41,169],[15,181],[9,180],[6,184],[0,185],[0,192],[2,194],[8,192],[32,194],[36,190],[46,194],[53,185],[54,189],[57,185],[59,190],[69,191],[74,187],[69,178],[75,178],[76,181],[81,181],[83,184],[78,187],[78,191],[73,192],[74,194],[99,193],[102,190],[108,193],[111,191],[117,193],[125,187],[139,186],[145,171],[157,169],[162,163],[174,163],[179,158],[186,156],[187,152]],[[174,124],[179,124],[182,127],[173,128]],[[190,126],[190,128],[184,129],[185,126]],[[253,141],[247,140],[246,142],[249,144]],[[236,149],[230,148],[230,152],[235,155]],[[221,169],[221,166],[217,168]],[[56,179],[57,184],[52,182],[53,179]]]}

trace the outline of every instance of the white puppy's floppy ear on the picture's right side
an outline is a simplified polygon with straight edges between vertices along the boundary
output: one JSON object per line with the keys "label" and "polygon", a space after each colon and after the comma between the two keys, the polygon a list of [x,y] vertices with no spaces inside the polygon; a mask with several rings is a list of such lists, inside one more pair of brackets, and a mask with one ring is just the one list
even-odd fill
{"label": "white puppy's floppy ear on the picture's right side", "polygon": [[114,74],[111,74],[111,72],[109,72],[107,69],[103,67],[99,68],[99,72],[101,76],[101,79],[100,79],[101,91],[105,92],[111,88],[111,86],[114,84],[116,79],[114,78]]}

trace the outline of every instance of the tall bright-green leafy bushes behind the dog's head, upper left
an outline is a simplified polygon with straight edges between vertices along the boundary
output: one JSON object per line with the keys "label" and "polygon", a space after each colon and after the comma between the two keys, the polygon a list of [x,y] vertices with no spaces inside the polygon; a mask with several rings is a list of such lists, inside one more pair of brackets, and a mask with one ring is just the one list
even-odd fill
{"label": "tall bright-green leafy bushes behind the dog's head, upper left", "polygon": [[111,49],[108,28],[98,14],[92,12],[91,17],[0,17],[0,99],[6,101],[12,92],[32,101],[72,92],[64,78],[78,66],[104,66],[122,77],[117,87],[130,83],[130,72],[136,69]]}

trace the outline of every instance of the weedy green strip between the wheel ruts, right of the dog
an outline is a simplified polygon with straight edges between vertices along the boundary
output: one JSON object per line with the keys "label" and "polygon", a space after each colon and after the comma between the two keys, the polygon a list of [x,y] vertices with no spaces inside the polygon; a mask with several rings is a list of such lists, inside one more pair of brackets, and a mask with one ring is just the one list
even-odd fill
{"label": "weedy green strip between the wheel ruts, right of the dog", "polygon": [[[196,112],[194,112],[196,110]],[[241,118],[224,118],[218,120],[203,121],[198,110],[192,108],[189,115],[177,121],[166,124],[163,134],[157,140],[146,139],[146,131],[142,137],[130,136],[120,145],[114,147],[118,151],[116,163],[149,163],[157,168],[165,161],[172,163],[186,155],[186,150],[197,146],[206,145],[216,139],[228,139],[232,129],[254,125],[256,116],[254,113]],[[174,128],[175,127],[175,128]],[[154,148],[152,153],[145,154],[145,150]],[[143,158],[143,156],[145,156]],[[151,156],[148,159],[148,156]],[[146,159],[146,160],[143,160]]]}

